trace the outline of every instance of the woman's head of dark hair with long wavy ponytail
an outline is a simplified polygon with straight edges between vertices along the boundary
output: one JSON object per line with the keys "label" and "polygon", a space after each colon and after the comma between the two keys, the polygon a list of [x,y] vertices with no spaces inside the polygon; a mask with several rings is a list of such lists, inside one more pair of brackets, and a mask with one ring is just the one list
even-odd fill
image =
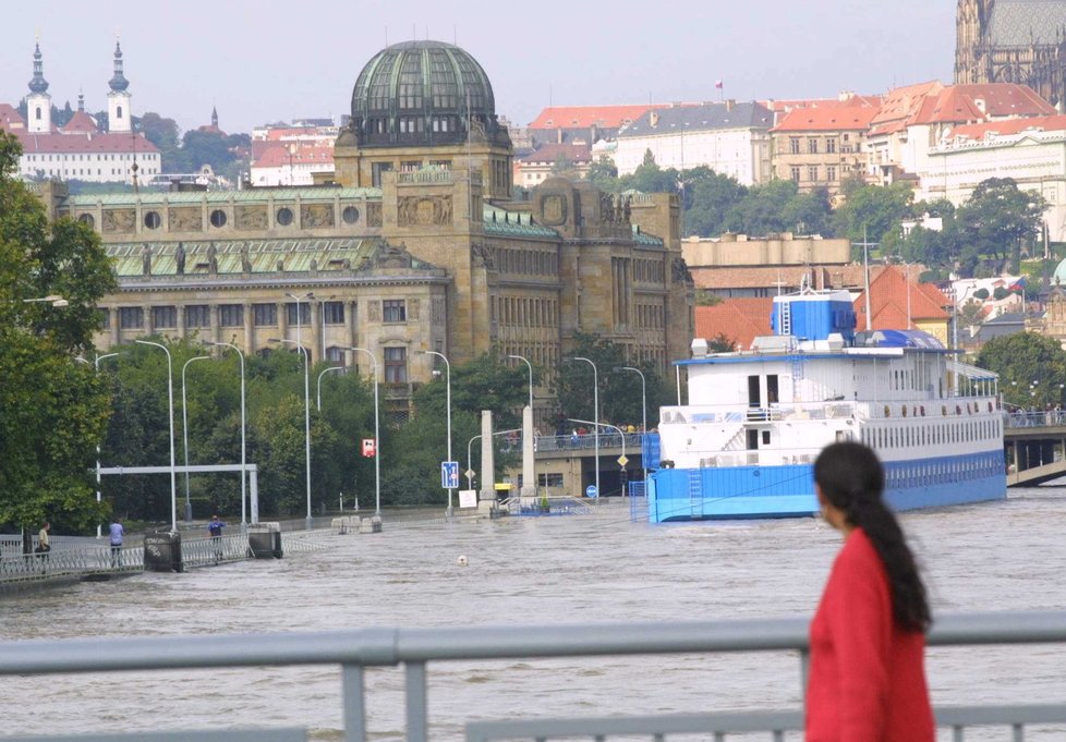
{"label": "woman's head of dark hair with long wavy ponytail", "polygon": [[873,544],[888,574],[893,616],[908,631],[925,631],[933,619],[914,556],[882,499],[885,474],[877,455],[855,442],[831,443],[814,462],[822,495]]}

